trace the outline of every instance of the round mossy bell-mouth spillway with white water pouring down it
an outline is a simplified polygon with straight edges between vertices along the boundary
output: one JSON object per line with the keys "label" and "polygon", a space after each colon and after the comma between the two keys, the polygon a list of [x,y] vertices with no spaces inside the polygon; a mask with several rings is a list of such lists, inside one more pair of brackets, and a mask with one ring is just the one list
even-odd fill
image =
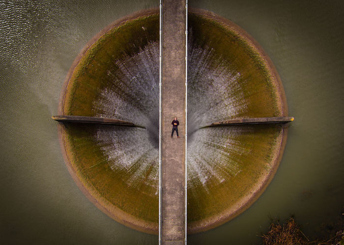
{"label": "round mossy bell-mouth spillway with white water pouring down it", "polygon": [[[286,117],[287,102],[270,59],[229,20],[192,9],[187,42],[187,229],[192,234],[231,220],[263,193],[281,161],[287,126],[241,123]],[[66,165],[104,213],[157,234],[158,10],[124,17],[89,41],[66,77],[59,114],[115,120],[59,123]]]}

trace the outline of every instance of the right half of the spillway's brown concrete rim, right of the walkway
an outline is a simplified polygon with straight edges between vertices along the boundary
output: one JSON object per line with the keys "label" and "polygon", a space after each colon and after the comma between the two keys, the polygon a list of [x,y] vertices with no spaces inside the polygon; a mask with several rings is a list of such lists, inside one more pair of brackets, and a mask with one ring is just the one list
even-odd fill
{"label": "right half of the spillway's brown concrete rim, right of the walkway", "polygon": [[[242,38],[250,48],[258,53],[261,61],[264,63],[264,66],[271,75],[271,81],[273,86],[275,87],[275,91],[277,94],[277,107],[281,113],[281,115],[279,116],[287,117],[287,98],[284,92],[281,78],[277,73],[277,70],[273,65],[271,59],[265,53],[264,49],[258,44],[258,42],[244,29],[213,12],[195,8],[189,9],[189,12],[196,15],[201,15],[203,18],[209,19],[211,21],[215,21],[225,27],[227,30],[234,32],[237,36]],[[258,179],[257,184],[251,188],[251,192],[248,191],[248,193],[251,193],[251,195],[247,195],[244,198],[241,198],[240,200],[238,200],[236,205],[233,205],[231,208],[228,208],[217,215],[208,217],[201,221],[189,223],[187,230],[188,234],[207,231],[234,219],[245,210],[247,210],[259,198],[259,196],[262,195],[269,183],[272,181],[275,173],[277,172],[277,169],[283,157],[284,148],[287,143],[287,125],[284,125],[281,130],[282,132],[277,138],[277,142],[272,153],[273,160],[271,170]]]}

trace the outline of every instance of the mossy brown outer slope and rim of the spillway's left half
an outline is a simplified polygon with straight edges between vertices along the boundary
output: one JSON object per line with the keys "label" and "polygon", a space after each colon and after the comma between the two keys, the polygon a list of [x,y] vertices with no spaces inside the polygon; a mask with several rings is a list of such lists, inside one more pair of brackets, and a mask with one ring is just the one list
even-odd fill
{"label": "mossy brown outer slope and rim of the spillway's left half", "polygon": [[[66,78],[60,114],[96,116],[92,102],[97,100],[100,91],[118,86],[107,74],[109,70],[118,70],[115,61],[138,53],[148,43],[158,40],[157,10],[125,17],[100,32],[93,43],[86,45]],[[130,99],[127,97],[128,101]],[[100,126],[66,123],[59,127],[66,165],[85,195],[116,221],[157,234],[157,190],[147,185],[132,188],[125,182],[130,178],[129,172],[111,169],[108,156],[95,139]]]}

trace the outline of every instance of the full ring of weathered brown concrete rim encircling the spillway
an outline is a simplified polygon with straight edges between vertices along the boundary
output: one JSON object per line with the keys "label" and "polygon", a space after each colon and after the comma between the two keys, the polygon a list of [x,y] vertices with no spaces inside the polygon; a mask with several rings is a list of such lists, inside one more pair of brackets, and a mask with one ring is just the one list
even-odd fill
{"label": "full ring of weathered brown concrete rim encircling the spillway", "polygon": [[[216,21],[219,24],[223,25],[224,27],[228,28],[231,31],[235,31],[238,36],[242,37],[243,40],[245,40],[254,50],[256,50],[261,57],[262,61],[265,62],[265,67],[269,70],[269,73],[271,74],[271,80],[273,84],[275,85],[275,89],[278,93],[278,107],[281,111],[281,116],[287,116],[287,101],[286,96],[284,93],[284,89],[282,86],[281,79],[272,64],[270,58],[265,54],[263,49],[258,45],[258,43],[243,29],[241,29],[239,26],[233,24],[229,20],[220,17],[212,12],[201,10],[201,9],[191,9],[189,12],[195,13],[198,15],[201,15],[204,18],[211,19],[212,21]],[[59,100],[59,108],[58,112],[60,115],[64,114],[64,99],[66,94],[68,93],[67,87],[68,83],[71,79],[71,76],[79,64],[81,58],[86,53],[86,51],[106,32],[109,30],[116,28],[120,25],[124,25],[127,21],[135,20],[137,18],[142,18],[145,16],[150,16],[153,14],[158,14],[159,10],[156,9],[150,9],[146,11],[139,11],[136,13],[133,13],[131,15],[128,15],[126,17],[123,17],[117,21],[115,21],[113,24],[108,25],[106,28],[101,30],[97,35],[95,35],[87,44],[86,46],[81,50],[79,55],[74,60],[72,66],[70,67],[66,79],[62,86],[62,92],[60,94],[60,100]],[[68,146],[67,142],[65,141],[66,135],[64,130],[64,125],[62,123],[59,123],[58,125],[58,137],[59,142],[62,149],[63,158],[66,164],[66,167],[70,174],[72,175],[74,181],[78,185],[79,189],[85,194],[85,196],[100,210],[102,210],[105,214],[107,214],[109,217],[113,218],[115,221],[118,221],[128,227],[131,227],[133,229],[143,231],[150,234],[158,234],[158,224],[155,222],[147,222],[138,219],[137,217],[134,217],[126,212],[123,212],[119,208],[115,207],[112,203],[107,201],[104,197],[100,196],[97,190],[94,188],[92,189],[92,186],[89,185],[85,180],[83,181],[82,178],[80,178],[80,175],[76,169],[73,169],[73,165],[71,164],[71,159],[68,157],[68,149],[70,149],[71,146]],[[273,167],[269,174],[262,176],[261,180],[258,181],[260,185],[257,185],[257,188],[253,188],[256,190],[251,196],[248,196],[245,198],[245,200],[241,201],[236,205],[236,209],[229,208],[222,212],[221,214],[218,214],[216,216],[212,216],[210,218],[194,222],[192,225],[188,225],[188,233],[193,234],[201,231],[206,231],[209,229],[212,229],[214,227],[220,226],[221,224],[233,219],[234,217],[238,216],[242,212],[244,212],[246,209],[248,209],[257,199],[258,197],[264,192],[268,184],[271,182],[272,177],[277,172],[279,163],[283,156],[284,147],[286,145],[287,141],[287,127],[283,128],[283,131],[278,139],[279,144],[276,143],[276,148],[274,152],[273,157]],[[192,226],[192,227],[191,227]]]}

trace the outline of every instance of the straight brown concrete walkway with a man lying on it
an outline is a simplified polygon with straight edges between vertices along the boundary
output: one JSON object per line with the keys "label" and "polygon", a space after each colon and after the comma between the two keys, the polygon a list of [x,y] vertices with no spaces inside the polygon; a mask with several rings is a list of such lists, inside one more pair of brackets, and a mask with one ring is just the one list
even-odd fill
{"label": "straight brown concrete walkway with a man lying on it", "polygon": [[[185,0],[163,1],[161,242],[185,243]],[[171,138],[178,118],[179,136]]]}

